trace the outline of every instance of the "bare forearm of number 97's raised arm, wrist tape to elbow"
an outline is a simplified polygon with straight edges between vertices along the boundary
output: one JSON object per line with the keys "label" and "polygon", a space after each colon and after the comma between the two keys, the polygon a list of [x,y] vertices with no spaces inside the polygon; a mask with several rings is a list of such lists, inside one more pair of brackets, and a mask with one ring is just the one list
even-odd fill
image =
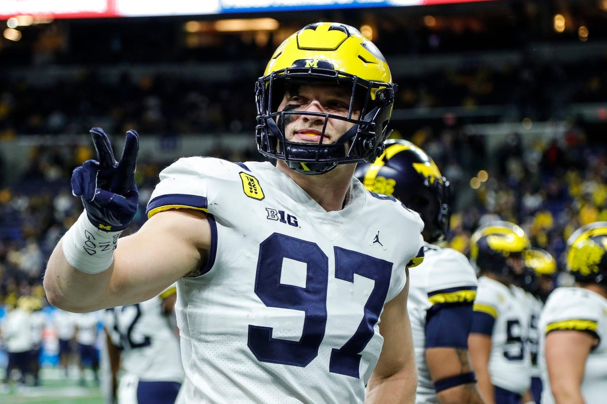
{"label": "bare forearm of number 97's raised arm, wrist tape to elbow", "polygon": [[50,256],[44,273],[44,290],[53,306],[74,313],[85,313],[104,308],[103,296],[112,271],[87,274],[67,262],[59,241]]}

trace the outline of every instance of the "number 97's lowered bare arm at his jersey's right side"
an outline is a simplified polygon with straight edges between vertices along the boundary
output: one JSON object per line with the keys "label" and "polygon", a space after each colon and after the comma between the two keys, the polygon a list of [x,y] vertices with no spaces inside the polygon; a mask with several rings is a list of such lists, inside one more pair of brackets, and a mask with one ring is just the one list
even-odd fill
{"label": "number 97's lowered bare arm at his jersey's right side", "polygon": [[415,402],[417,369],[413,353],[411,323],[407,314],[407,283],[401,293],[385,303],[379,333],[384,346],[367,384],[365,403],[401,404]]}

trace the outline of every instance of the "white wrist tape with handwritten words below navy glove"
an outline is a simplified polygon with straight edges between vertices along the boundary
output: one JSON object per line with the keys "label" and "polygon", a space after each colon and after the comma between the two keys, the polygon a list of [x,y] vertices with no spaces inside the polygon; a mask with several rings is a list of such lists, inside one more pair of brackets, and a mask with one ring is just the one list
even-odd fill
{"label": "white wrist tape with handwritten words below navy glove", "polygon": [[98,274],[112,265],[120,233],[95,228],[84,211],[63,236],[63,255],[76,270]]}

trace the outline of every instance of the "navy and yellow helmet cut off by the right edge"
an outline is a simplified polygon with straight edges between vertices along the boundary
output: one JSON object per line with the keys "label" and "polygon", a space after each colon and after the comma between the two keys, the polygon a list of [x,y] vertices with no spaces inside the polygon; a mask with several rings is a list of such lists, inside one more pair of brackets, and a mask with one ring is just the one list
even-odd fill
{"label": "navy and yellow helmet cut off by the right edge", "polygon": [[567,240],[567,269],[577,282],[607,286],[607,222],[578,228]]}

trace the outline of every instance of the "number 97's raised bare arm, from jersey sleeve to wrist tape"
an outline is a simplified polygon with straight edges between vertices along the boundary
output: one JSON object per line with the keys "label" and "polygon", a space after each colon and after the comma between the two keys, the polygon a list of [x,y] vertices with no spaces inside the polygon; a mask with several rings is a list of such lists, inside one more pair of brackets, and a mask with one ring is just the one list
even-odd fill
{"label": "number 97's raised bare arm, from jersey sleeve to wrist tape", "polygon": [[210,229],[203,213],[164,211],[118,240],[107,271],[87,274],[53,251],[44,277],[49,301],[67,311],[94,311],[151,299],[182,276],[204,266]]}

